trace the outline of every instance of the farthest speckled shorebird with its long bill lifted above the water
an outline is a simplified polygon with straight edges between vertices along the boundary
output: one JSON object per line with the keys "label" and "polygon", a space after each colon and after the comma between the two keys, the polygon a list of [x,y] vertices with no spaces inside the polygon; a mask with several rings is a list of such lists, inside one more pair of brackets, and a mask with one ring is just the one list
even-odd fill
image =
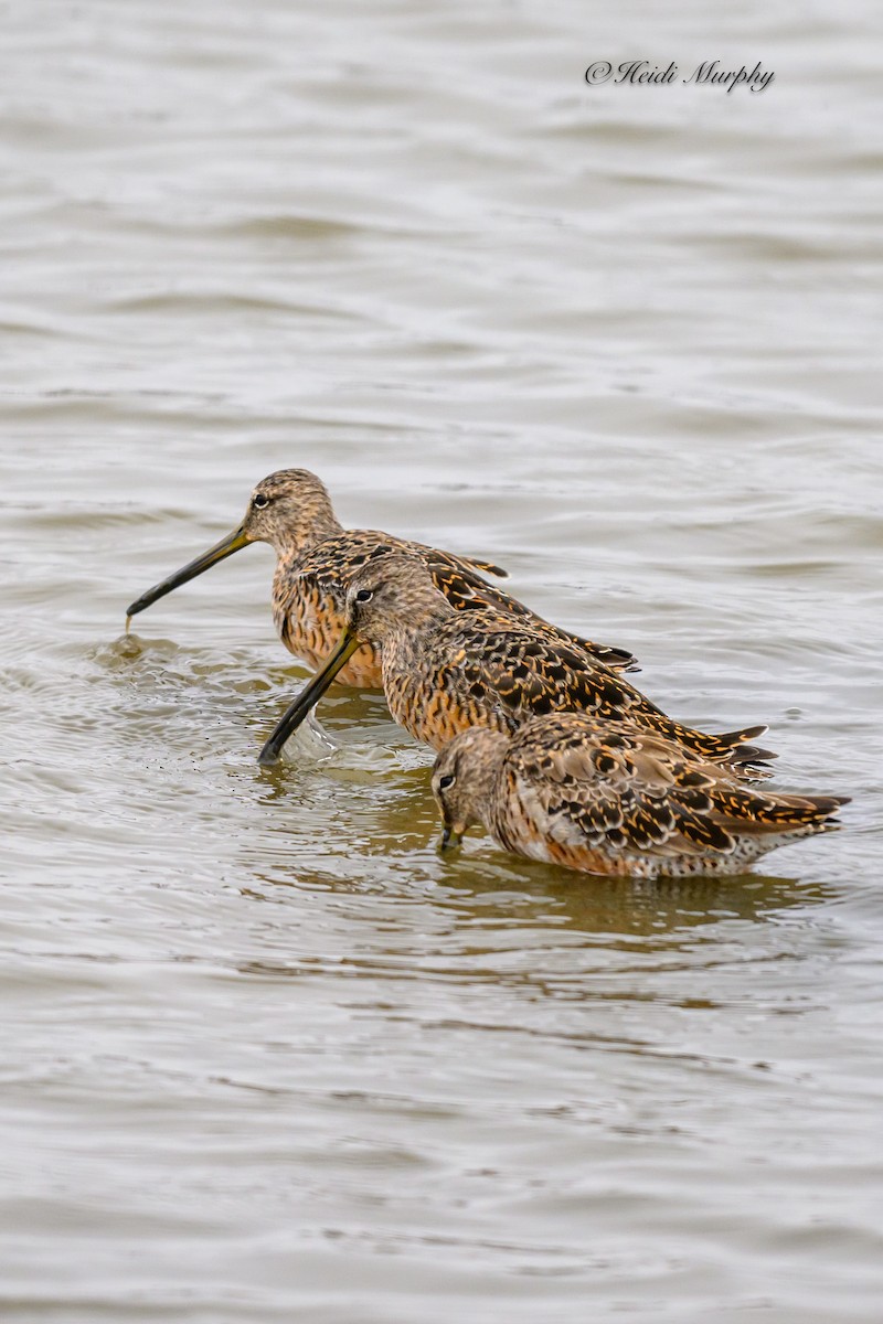
{"label": "farthest speckled shorebird with its long bill lifted above the water", "polygon": [[[127,618],[249,543],[270,543],[275,551],[273,621],[289,651],[311,667],[324,661],[340,637],[346,588],[352,575],[372,557],[396,551],[421,560],[436,588],[461,610],[490,609],[508,614],[549,638],[568,642],[613,670],[637,670],[637,662],[626,649],[594,643],[559,630],[518,598],[488,584],[483,575],[506,577],[499,565],[455,556],[376,530],[343,528],[324,485],[308,469],[281,469],[263,478],[252,493],[245,518],[233,532],[142,593],[127,609]],[[376,646],[363,643],[342,667],[339,681],[381,688]]]}

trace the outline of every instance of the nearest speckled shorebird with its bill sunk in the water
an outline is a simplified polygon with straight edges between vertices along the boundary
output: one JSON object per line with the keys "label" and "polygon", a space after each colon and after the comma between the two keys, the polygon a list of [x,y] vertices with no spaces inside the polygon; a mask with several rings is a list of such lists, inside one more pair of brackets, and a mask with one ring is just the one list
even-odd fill
{"label": "nearest speckled shorebird with its bill sunk in the water", "polygon": [[831,831],[843,796],[745,786],[654,731],[582,712],[515,735],[471,727],[433,768],[442,849],[482,824],[504,850],[588,874],[739,874],[760,855]]}

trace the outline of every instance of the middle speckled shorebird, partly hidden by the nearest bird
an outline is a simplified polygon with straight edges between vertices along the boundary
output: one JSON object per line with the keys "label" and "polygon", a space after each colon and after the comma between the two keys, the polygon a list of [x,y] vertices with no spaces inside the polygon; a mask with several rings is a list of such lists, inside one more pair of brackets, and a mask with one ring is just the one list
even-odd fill
{"label": "middle speckled shorebird, partly hidden by the nearest bird", "polygon": [[602,662],[530,622],[458,612],[413,556],[391,553],[364,565],[351,580],[344,614],[338,647],[278,723],[261,751],[262,764],[278,761],[285,741],[363,642],[380,649],[392,716],[434,749],[467,727],[510,735],[536,714],[584,711],[605,722],[627,719],[733,767],[774,757],[745,744],[764,726],[725,735],[694,731]]}

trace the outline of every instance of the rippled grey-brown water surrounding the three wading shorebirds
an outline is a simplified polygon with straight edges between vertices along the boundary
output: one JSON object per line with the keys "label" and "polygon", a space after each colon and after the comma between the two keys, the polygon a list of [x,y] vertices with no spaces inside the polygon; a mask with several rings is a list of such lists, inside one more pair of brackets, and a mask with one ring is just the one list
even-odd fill
{"label": "rippled grey-brown water surrounding the three wading shorebirds", "polygon": [[[0,1300],[16,1321],[876,1321],[866,4],[8,5]],[[760,97],[586,87],[763,60]],[[434,851],[249,549],[315,469],[633,647],[847,830],[751,880]]]}

